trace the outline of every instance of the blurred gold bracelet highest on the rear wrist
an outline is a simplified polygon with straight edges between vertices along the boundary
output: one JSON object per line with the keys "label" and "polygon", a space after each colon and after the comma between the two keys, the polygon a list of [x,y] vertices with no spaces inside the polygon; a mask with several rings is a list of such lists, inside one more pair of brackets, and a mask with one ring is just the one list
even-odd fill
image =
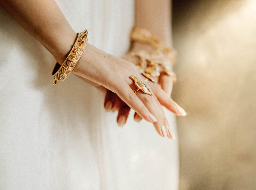
{"label": "blurred gold bracelet highest on the rear wrist", "polygon": [[131,38],[131,41],[138,41],[138,42],[142,42],[142,43],[147,43],[147,44],[153,46],[157,50],[164,53],[164,55],[166,55],[170,59],[172,65],[175,64],[176,55],[177,55],[176,50],[167,46],[164,42],[159,40],[158,37],[153,35],[147,29],[134,27],[133,30],[132,30],[130,38]]}

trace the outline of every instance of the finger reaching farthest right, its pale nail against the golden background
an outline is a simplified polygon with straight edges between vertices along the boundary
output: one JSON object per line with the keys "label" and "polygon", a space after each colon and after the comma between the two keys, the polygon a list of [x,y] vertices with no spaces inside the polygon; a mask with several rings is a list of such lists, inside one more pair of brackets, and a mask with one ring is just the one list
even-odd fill
{"label": "finger reaching farthest right, its pale nail against the golden background", "polygon": [[150,83],[150,86],[152,86],[152,91],[156,94],[157,100],[160,102],[161,105],[163,105],[172,113],[178,116],[187,115],[186,111],[183,110],[176,102],[174,102],[169,97],[169,95],[167,95],[166,92],[164,92],[160,85],[156,83]]}

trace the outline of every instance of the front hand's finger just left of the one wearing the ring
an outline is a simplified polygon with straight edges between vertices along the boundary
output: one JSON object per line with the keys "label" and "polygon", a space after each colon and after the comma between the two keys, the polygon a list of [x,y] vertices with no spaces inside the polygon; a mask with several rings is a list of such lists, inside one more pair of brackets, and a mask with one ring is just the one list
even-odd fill
{"label": "front hand's finger just left of the one wearing the ring", "polygon": [[138,96],[132,91],[131,87],[126,83],[123,82],[120,85],[121,89],[127,90],[120,90],[116,89],[116,94],[134,111],[136,111],[141,118],[145,119],[146,121],[153,123],[156,122],[156,118],[149,112],[147,107],[143,104],[143,102],[138,98]]}

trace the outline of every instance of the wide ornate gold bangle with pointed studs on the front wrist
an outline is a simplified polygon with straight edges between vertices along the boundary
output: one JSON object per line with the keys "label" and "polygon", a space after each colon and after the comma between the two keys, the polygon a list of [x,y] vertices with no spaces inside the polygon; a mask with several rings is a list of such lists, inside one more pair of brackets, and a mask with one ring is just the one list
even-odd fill
{"label": "wide ornate gold bangle with pointed studs on the front wrist", "polygon": [[[57,84],[59,81],[65,80],[68,77],[68,75],[72,72],[72,70],[75,68],[77,62],[79,61],[80,57],[84,53],[84,48],[88,41],[87,35],[88,35],[88,30],[84,30],[83,32],[78,33],[75,44],[73,45],[71,51],[68,54],[68,57],[66,58],[66,60],[60,66],[59,69],[58,69],[59,64],[56,63],[52,72],[53,85]],[[57,72],[55,72],[56,70]]]}

